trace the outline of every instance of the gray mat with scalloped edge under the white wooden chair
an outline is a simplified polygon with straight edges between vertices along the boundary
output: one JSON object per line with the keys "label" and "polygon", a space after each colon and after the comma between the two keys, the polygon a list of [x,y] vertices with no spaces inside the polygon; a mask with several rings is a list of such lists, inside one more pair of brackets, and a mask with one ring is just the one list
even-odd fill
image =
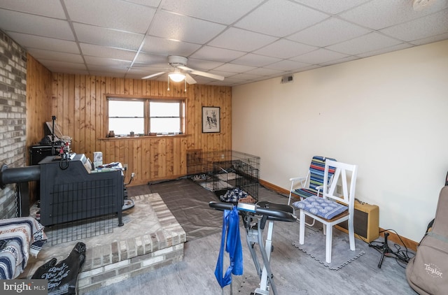
{"label": "gray mat with scalloped edge under the white wooden chair", "polygon": [[360,241],[355,240],[355,251],[351,251],[349,235],[343,231],[339,231],[339,229],[333,228],[330,264],[325,261],[325,236],[321,230],[311,231],[305,226],[304,244],[300,245],[297,239],[293,242],[293,245],[314,258],[320,264],[323,264],[332,270],[338,270],[365,254],[365,252],[356,245],[357,243],[360,243]]}

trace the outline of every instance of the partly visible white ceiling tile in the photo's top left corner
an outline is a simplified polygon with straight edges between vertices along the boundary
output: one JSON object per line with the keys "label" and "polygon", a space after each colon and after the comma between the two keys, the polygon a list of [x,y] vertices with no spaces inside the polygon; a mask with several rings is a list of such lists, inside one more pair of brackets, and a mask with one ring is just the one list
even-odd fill
{"label": "partly visible white ceiling tile in the photo's top left corner", "polygon": [[60,0],[1,0],[1,8],[65,19]]}

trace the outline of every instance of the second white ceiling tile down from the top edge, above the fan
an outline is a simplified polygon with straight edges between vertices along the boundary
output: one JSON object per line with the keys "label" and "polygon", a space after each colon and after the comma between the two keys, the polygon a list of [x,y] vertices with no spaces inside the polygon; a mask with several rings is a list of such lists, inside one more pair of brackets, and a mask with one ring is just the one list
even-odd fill
{"label": "second white ceiling tile down from the top edge, above the fan", "polygon": [[225,29],[222,24],[160,11],[149,35],[190,43],[205,43]]}

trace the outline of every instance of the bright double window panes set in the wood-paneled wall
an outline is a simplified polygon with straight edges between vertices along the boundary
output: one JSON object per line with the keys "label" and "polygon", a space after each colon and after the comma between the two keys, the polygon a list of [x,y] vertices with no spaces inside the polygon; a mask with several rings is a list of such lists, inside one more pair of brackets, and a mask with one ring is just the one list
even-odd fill
{"label": "bright double window panes set in the wood-paneled wall", "polygon": [[108,106],[109,131],[116,136],[184,133],[184,100],[109,97]]}

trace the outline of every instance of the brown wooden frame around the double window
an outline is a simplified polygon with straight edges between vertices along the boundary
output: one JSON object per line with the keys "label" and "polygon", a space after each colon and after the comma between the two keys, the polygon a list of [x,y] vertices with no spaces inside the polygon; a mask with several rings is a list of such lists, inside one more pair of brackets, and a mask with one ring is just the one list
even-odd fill
{"label": "brown wooden frame around the double window", "polygon": [[[149,135],[151,130],[151,117],[149,105],[150,101],[157,102],[178,102],[179,103],[179,124],[181,131],[179,134],[186,134],[186,110],[187,110],[187,99],[186,97],[161,97],[161,96],[130,96],[130,95],[116,95],[116,94],[105,94],[105,112],[104,116],[104,127],[106,129],[106,134],[109,134],[109,101],[143,101],[144,102],[144,135]],[[173,135],[177,133],[170,132],[169,134],[158,133],[157,135]],[[153,135],[153,134],[151,134]],[[106,135],[107,136],[107,135]],[[126,136],[130,136],[127,134]]]}

